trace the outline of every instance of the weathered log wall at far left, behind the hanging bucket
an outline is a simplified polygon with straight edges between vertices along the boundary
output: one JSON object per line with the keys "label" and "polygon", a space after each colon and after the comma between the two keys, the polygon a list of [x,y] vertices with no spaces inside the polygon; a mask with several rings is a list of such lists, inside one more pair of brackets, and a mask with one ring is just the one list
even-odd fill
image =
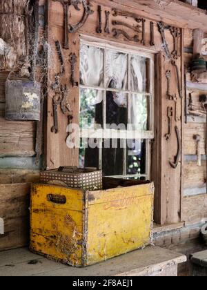
{"label": "weathered log wall at far left, behind the hanging bucket", "polygon": [[[40,29],[39,36],[36,35],[37,9],[37,1],[6,0],[0,3],[0,218],[4,223],[0,251],[28,244],[30,183],[39,181],[41,168],[35,157],[37,122],[10,122],[5,119],[5,84],[10,72],[28,77],[35,70],[37,81],[42,77],[38,67],[34,66],[37,51],[34,39],[41,39],[42,33]],[[28,14],[30,20],[26,27]],[[41,15],[39,20],[41,23]]]}

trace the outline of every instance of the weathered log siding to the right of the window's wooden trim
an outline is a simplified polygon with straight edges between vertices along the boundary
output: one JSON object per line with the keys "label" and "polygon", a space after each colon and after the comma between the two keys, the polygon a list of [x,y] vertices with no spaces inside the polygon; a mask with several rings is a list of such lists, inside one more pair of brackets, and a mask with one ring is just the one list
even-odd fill
{"label": "weathered log siding to the right of the window's wooden trim", "polygon": [[[190,66],[193,59],[193,30],[185,29],[184,37],[185,64]],[[191,81],[190,73],[187,80]],[[206,94],[205,91],[196,89],[187,90],[187,106],[189,106],[189,93],[192,93],[193,110],[195,115],[188,115],[188,124],[184,125],[184,196],[182,206],[182,218],[185,222],[200,222],[207,217],[207,195],[206,192],[206,115],[199,103],[199,95]],[[197,115],[197,116],[196,116]],[[193,135],[201,136],[201,166],[197,166],[197,144]],[[203,194],[200,194],[203,193]],[[190,196],[192,195],[192,196]]]}

